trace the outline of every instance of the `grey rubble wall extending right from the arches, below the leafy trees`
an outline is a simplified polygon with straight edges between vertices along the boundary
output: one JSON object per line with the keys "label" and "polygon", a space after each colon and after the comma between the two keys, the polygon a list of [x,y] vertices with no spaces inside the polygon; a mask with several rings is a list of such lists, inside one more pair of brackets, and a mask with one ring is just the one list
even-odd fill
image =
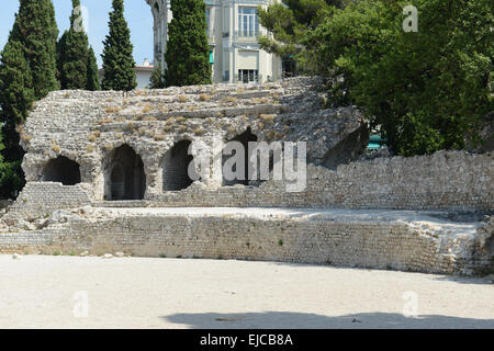
{"label": "grey rubble wall extending right from the arches, below the leafy trees", "polygon": [[[192,186],[154,196],[146,206],[339,207],[494,211],[494,155],[440,151],[340,166],[308,166],[307,188],[290,193],[283,182],[259,188]],[[99,204],[115,206],[115,204]]]}

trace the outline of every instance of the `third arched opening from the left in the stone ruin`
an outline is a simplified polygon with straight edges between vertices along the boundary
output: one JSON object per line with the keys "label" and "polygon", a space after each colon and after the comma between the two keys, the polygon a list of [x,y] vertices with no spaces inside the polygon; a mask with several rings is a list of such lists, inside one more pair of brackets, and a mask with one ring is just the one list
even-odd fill
{"label": "third arched opening from the left in the stone ruin", "polygon": [[192,155],[189,155],[190,145],[191,141],[181,140],[165,155],[161,162],[164,191],[180,191],[193,183],[189,177],[189,165],[193,160]]}

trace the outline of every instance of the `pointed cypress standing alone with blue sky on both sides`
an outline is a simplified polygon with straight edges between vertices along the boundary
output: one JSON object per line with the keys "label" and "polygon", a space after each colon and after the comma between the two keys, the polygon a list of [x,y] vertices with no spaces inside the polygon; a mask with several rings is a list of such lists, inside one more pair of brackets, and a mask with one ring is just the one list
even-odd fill
{"label": "pointed cypress standing alone with blue sky on both sides", "polygon": [[103,49],[103,90],[133,90],[137,87],[134,46],[131,43],[131,31],[124,18],[123,0],[112,1],[110,12],[110,34],[106,35]]}

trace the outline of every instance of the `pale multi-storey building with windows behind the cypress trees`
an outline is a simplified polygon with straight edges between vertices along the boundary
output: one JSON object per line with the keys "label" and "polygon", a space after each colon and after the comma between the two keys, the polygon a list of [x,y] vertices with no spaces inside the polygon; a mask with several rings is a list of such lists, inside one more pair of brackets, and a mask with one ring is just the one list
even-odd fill
{"label": "pale multi-storey building with windows behind the cypress trees", "polygon": [[[281,78],[282,63],[277,55],[261,50],[258,37],[268,32],[257,15],[278,0],[205,0],[207,39],[214,82],[266,82]],[[170,0],[146,0],[151,7],[155,35],[155,64],[164,59]],[[162,63],[166,67],[166,63]]]}

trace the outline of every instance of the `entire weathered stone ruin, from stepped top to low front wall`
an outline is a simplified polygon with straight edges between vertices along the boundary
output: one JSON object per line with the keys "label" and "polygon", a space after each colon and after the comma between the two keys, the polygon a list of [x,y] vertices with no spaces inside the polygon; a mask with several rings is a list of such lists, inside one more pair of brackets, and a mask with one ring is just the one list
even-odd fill
{"label": "entire weathered stone ruin, from stepped top to low front wall", "polygon": [[[366,160],[361,113],[323,102],[310,78],[53,92],[21,135],[27,184],[0,219],[0,252],[490,272],[493,155]],[[306,188],[214,172],[193,181],[191,143],[231,140],[306,141]]]}

